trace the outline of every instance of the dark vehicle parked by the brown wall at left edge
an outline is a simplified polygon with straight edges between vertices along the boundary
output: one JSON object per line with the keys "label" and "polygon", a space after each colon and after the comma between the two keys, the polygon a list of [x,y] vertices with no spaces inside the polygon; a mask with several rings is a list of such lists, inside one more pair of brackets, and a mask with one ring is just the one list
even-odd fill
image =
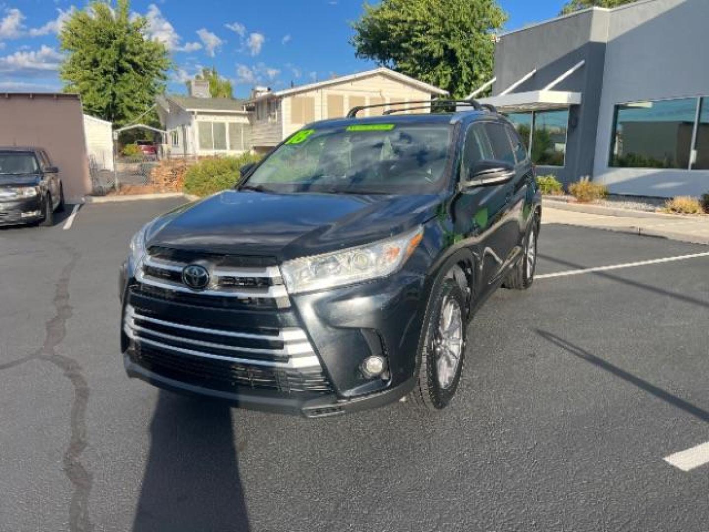
{"label": "dark vehicle parked by the brown wall at left edge", "polygon": [[58,172],[45,150],[0,147],[0,225],[52,226],[64,209]]}

